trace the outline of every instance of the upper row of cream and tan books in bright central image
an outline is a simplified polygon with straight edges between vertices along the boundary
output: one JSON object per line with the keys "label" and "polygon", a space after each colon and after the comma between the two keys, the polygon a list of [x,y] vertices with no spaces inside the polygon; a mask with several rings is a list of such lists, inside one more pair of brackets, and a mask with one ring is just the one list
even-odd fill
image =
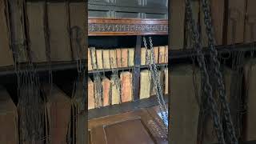
{"label": "upper row of cream and tan books in bright central image", "polygon": [[[146,51],[141,48],[141,65],[146,65]],[[168,63],[168,46],[154,46],[155,63]],[[114,69],[134,66],[134,48],[88,49],[88,70]]]}

